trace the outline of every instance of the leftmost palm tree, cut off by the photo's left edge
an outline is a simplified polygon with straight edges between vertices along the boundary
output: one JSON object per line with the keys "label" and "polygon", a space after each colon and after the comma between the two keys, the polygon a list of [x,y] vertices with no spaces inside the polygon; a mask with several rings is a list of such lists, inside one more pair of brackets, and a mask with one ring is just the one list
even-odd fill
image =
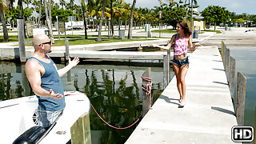
{"label": "leftmost palm tree, cut off by the photo's left edge", "polygon": [[1,15],[1,20],[2,20],[2,29],[3,29],[3,41],[8,42],[9,41],[9,36],[8,36],[8,31],[6,28],[6,18],[4,12],[8,10],[8,2],[5,0],[0,1],[0,15]]}

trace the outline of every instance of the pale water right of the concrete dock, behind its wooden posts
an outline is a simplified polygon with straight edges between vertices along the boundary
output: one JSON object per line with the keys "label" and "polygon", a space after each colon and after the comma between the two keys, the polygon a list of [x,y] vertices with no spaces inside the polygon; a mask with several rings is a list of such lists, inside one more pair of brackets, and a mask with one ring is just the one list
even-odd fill
{"label": "pale water right of the concrete dock, behind its wooden posts", "polygon": [[245,126],[254,126],[256,108],[256,47],[248,47],[246,49],[231,47],[230,54],[236,60],[235,87],[237,86],[237,72],[239,71],[246,76]]}

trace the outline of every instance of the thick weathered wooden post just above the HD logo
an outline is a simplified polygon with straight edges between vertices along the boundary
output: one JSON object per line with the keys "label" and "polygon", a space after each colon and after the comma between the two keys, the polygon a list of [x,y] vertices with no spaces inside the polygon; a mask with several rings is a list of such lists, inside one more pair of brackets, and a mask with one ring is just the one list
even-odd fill
{"label": "thick weathered wooden post just above the HD logo", "polygon": [[235,115],[237,116],[238,126],[243,126],[246,105],[246,77],[240,72],[238,72],[237,98],[235,103]]}

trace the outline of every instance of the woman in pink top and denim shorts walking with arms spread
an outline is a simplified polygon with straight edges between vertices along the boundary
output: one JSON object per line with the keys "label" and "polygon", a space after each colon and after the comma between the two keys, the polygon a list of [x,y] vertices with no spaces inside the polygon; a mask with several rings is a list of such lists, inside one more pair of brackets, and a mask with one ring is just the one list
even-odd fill
{"label": "woman in pink top and denim shorts walking with arms spread", "polygon": [[178,93],[180,95],[180,106],[185,106],[186,96],[186,72],[189,69],[189,58],[187,57],[187,46],[190,46],[190,51],[193,51],[196,46],[202,46],[201,43],[192,45],[192,36],[189,26],[184,21],[177,22],[176,25],[177,34],[174,34],[170,39],[167,46],[158,46],[151,44],[151,47],[159,47],[163,50],[169,50],[174,44],[174,74],[177,79]]}

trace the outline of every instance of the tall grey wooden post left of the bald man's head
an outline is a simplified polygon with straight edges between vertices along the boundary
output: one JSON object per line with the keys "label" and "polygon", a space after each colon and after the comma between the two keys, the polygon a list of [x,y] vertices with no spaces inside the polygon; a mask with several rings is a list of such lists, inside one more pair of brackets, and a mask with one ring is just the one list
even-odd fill
{"label": "tall grey wooden post left of the bald man's head", "polygon": [[24,19],[20,15],[17,18],[19,58],[22,63],[26,62]]}

